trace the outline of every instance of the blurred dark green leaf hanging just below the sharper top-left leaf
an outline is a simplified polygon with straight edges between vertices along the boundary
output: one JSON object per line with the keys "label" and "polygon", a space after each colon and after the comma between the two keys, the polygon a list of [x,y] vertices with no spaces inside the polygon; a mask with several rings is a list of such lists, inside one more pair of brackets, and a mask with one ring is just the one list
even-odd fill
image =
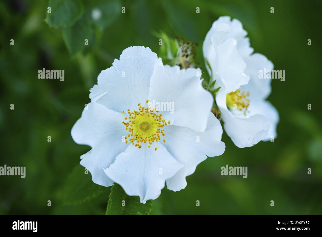
{"label": "blurred dark green leaf hanging just below the sharper top-left leaf", "polygon": [[[62,36],[68,52],[74,55],[93,44],[94,30],[87,18],[83,16],[73,26],[64,28]],[[85,45],[86,39],[88,40],[88,45]]]}

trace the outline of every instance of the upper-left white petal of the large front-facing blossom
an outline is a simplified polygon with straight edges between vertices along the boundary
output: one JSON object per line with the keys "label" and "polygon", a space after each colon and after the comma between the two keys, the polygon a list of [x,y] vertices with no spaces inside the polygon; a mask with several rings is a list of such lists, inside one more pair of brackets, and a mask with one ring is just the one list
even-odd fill
{"label": "upper-left white petal of the large front-facing blossom", "polygon": [[149,94],[149,84],[157,55],[143,46],[129,47],[112,67],[101,71],[90,98],[109,109],[122,112],[137,108]]}

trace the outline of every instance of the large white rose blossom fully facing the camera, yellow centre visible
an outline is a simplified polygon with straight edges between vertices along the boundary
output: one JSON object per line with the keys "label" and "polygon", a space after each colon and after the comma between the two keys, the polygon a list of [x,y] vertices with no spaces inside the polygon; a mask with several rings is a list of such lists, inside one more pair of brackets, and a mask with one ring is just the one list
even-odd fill
{"label": "large white rose blossom fully facing the camera, yellow centre visible", "polygon": [[[88,109],[71,130],[76,143],[92,147],[81,165],[94,183],[118,183],[145,203],[165,182],[173,191],[185,188],[199,163],[223,154],[223,130],[200,75],[200,69],[163,65],[142,46],[125,49],[101,71]],[[174,113],[148,107],[154,100],[174,103]]]}

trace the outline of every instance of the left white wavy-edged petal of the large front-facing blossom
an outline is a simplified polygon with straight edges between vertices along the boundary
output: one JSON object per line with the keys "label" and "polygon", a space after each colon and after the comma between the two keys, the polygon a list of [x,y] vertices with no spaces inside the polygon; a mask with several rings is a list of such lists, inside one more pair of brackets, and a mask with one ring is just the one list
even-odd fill
{"label": "left white wavy-edged petal of the large front-facing blossom", "polygon": [[104,174],[115,157],[127,147],[122,136],[127,135],[122,124],[124,117],[97,103],[89,103],[82,116],[71,129],[71,136],[78,144],[92,149],[81,156],[81,165],[87,168],[94,183],[111,186],[113,182]]}

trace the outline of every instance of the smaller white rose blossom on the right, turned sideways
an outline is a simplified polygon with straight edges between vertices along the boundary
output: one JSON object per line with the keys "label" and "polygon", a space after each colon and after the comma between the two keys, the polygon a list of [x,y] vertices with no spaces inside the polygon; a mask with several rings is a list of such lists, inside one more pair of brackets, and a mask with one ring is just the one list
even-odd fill
{"label": "smaller white rose blossom on the right, turned sideways", "polygon": [[271,92],[271,77],[259,78],[259,70],[272,70],[264,55],[253,53],[242,23],[229,16],[220,17],[207,33],[203,53],[216,80],[216,104],[224,129],[233,143],[250,147],[276,137],[277,110],[266,100]]}

